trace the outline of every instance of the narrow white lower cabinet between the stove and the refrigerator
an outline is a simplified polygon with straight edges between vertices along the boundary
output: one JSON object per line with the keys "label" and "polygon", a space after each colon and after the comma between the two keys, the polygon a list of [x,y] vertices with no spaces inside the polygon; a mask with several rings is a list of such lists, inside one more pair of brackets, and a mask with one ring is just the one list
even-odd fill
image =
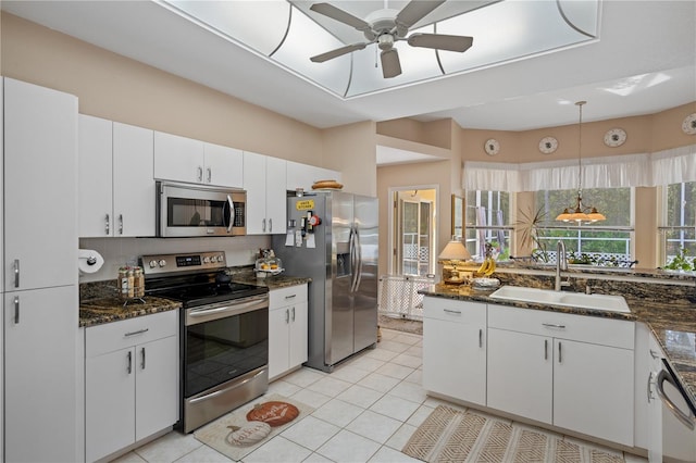
{"label": "narrow white lower cabinet between the stove and the refrigerator", "polygon": [[307,362],[307,285],[269,292],[269,378]]}

